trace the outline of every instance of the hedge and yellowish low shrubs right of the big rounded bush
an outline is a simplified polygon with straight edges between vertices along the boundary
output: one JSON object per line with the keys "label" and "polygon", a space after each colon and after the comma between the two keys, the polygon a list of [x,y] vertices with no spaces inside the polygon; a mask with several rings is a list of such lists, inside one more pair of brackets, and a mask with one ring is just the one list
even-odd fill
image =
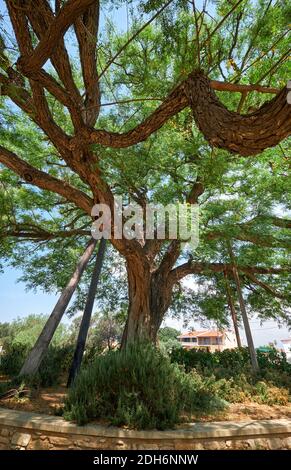
{"label": "hedge and yellowish low shrubs right of the big rounded bush", "polygon": [[173,350],[171,360],[187,372],[204,377],[212,393],[230,403],[254,401],[266,405],[287,405],[291,395],[291,364],[284,353],[257,351],[260,372],[251,369],[247,348],[210,353],[201,350]]}

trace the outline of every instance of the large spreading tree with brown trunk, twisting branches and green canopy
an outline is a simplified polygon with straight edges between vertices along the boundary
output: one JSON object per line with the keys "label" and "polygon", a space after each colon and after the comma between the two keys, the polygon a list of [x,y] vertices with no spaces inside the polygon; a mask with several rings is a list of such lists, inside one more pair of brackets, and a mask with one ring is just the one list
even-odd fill
{"label": "large spreading tree with brown trunk, twisting branches and green canopy", "polygon": [[[14,178],[19,189],[12,199],[22,207],[21,192],[29,199],[30,188],[38,188],[32,190],[33,204],[54,220],[42,213],[37,222],[19,217],[17,210],[11,214],[15,201],[8,189],[1,196],[7,207],[3,236],[76,240],[90,233],[93,204],[106,203],[113,212],[115,194],[143,207],[147,202],[208,203],[194,255],[183,251],[180,240],[112,237],[127,270],[124,344],[156,338],[185,276],[232,273],[221,248],[225,238],[237,240],[240,251],[244,243],[274,250],[268,259],[262,256],[263,262],[238,257],[241,275],[261,288],[268,282],[260,276],[288,272],[281,250],[289,222],[273,210],[276,202],[284,202],[282,188],[269,211],[231,201],[233,213],[241,211],[235,221],[224,220],[228,198],[213,202],[227,192],[222,175],[228,178],[227,190],[241,184],[243,192],[250,166],[266,172],[269,159],[272,181],[279,177],[276,165],[285,171],[283,140],[291,130],[285,86],[288,7],[271,1],[208,3],[199,8],[195,2],[141,1],[127,31],[115,34],[112,24],[100,30],[98,1],[52,6],[37,0],[33,7],[26,0],[6,1],[14,33],[1,41],[0,162],[17,176],[4,172],[2,184],[6,178],[11,186]],[[77,57],[69,46],[73,38]],[[28,142],[19,132],[24,125],[31,131]],[[39,153],[30,154],[31,148]],[[284,176],[280,181],[285,184]],[[68,224],[60,227],[66,213]],[[262,224],[268,233],[258,233]],[[9,250],[9,242],[3,243]]]}

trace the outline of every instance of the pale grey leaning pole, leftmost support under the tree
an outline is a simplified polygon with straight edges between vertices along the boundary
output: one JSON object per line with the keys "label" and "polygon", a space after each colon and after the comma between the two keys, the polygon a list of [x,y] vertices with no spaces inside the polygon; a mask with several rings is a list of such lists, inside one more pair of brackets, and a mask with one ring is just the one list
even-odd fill
{"label": "pale grey leaning pole, leftmost support under the tree", "polygon": [[33,349],[31,350],[28,358],[26,359],[20,376],[32,375],[38,371],[41,361],[49,347],[52,337],[62,319],[63,314],[72,298],[73,293],[76,290],[77,285],[80,282],[81,276],[92,256],[94,248],[96,246],[96,240],[93,238],[88,243],[86,250],[79,259],[76,270],[72,275],[70,281],[64,288],[59,300],[57,301],[55,308],[53,309],[48,321],[46,322],[38,340],[36,341]]}

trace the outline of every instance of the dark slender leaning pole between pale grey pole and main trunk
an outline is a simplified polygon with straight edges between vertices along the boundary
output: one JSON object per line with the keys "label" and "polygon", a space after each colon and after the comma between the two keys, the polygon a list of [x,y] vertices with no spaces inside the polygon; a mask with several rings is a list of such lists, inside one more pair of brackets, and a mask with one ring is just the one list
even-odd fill
{"label": "dark slender leaning pole between pale grey pole and main trunk", "polygon": [[73,384],[79,372],[79,369],[81,367],[83,354],[85,350],[85,344],[86,344],[87,335],[88,335],[88,330],[90,327],[94,300],[96,297],[97,286],[98,286],[99,277],[100,277],[100,273],[101,273],[101,269],[103,265],[105,249],[106,249],[106,240],[104,238],[101,238],[99,242],[99,248],[98,248],[98,253],[96,256],[94,270],[92,273],[92,278],[90,282],[86,305],[85,305],[85,309],[84,309],[84,313],[83,313],[83,317],[82,317],[82,321],[81,321],[81,325],[79,329],[79,335],[77,339],[77,345],[76,345],[76,349],[74,353],[74,358],[73,358],[73,362],[72,362],[71,369],[69,372],[67,387],[70,387]]}

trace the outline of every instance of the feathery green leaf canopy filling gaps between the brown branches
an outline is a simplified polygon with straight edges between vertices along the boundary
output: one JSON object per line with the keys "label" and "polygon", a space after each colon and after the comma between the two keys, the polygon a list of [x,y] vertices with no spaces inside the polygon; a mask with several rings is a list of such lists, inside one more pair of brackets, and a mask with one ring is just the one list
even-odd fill
{"label": "feathery green leaf canopy filling gaps between the brown branches", "polygon": [[[286,60],[290,23],[288,2],[244,0],[231,15],[228,12],[234,2],[206,2],[205,9],[202,6],[204,2],[200,5],[196,2],[200,61],[192,3],[174,0],[134,41],[122,48],[165,2],[104,2],[102,14],[105,24],[98,37],[98,72],[104,70],[121,48],[122,53],[100,79],[102,103],[119,103],[101,107],[96,124],[98,129],[116,132],[133,129],[157,108],[188,72],[198,66],[214,80],[274,87],[285,85],[290,78]],[[128,21],[124,21],[121,27],[116,18],[121,18],[124,13]],[[8,29],[11,29],[8,15],[4,14],[4,17]],[[1,20],[0,66],[6,75],[7,63],[16,63],[19,51],[16,44],[10,47],[11,35],[7,33],[7,25],[2,23]],[[216,28],[217,25],[221,26]],[[72,45],[76,44],[73,33],[68,34]],[[70,49],[71,53],[74,47]],[[74,79],[83,95],[80,62],[75,54],[71,59],[74,59]],[[55,71],[48,68],[48,72],[59,82]],[[29,90],[29,83],[26,86]],[[231,110],[237,110],[243,98],[240,93],[217,94]],[[269,96],[248,93],[242,99],[241,112],[257,108]],[[49,93],[46,97],[53,119],[64,132],[72,135],[68,110]],[[89,185],[71,171],[39,127],[19,108],[11,105],[8,98],[4,96],[0,100],[1,145],[34,167],[91,196]],[[95,145],[92,150],[98,153],[100,170],[112,192],[122,194],[128,200],[142,199],[155,203],[185,201],[199,177],[205,191],[199,200],[200,244],[192,253],[194,262],[228,263],[225,241],[230,239],[234,241],[238,264],[272,268],[288,264],[289,231],[284,224],[280,225],[282,219],[277,221],[279,225],[273,220],[278,209],[282,218],[290,210],[288,145],[288,141],[282,142],[254,159],[212,149],[193,124],[190,110],[185,109],[139,145],[128,149]],[[73,204],[54,193],[24,183],[20,176],[1,167],[0,258],[22,269],[22,280],[29,288],[60,291],[74,269],[90,224],[91,218]],[[66,230],[75,229],[75,235],[69,238],[56,235],[63,233],[64,227]],[[7,235],[15,231],[22,233],[23,238]],[[37,244],[37,241],[41,243]],[[166,249],[167,242],[163,243],[157,260]],[[187,255],[182,252],[181,259]],[[90,264],[71,311],[78,311],[84,303],[91,268]],[[288,310],[290,280],[283,273],[260,275],[258,278],[276,290],[279,297],[242,275],[247,309],[255,311],[260,319],[271,318],[291,324]],[[195,276],[193,281],[199,285],[198,292],[184,285],[175,287],[171,313],[195,316],[195,319],[206,317],[227,325],[229,309],[222,273]],[[106,304],[112,310],[124,310],[127,305],[126,270],[114,250],[108,250],[101,283],[103,289],[99,289],[97,295],[102,307]],[[237,301],[235,292],[234,301]],[[26,334],[19,333],[21,342],[21,336]],[[169,343],[166,349],[171,348]]]}

